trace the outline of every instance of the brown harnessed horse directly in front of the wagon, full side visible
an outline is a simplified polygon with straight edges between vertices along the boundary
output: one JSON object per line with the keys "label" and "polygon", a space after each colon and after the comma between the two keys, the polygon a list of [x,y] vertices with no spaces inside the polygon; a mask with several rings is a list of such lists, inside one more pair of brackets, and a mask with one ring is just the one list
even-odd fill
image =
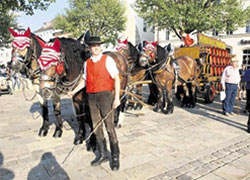
{"label": "brown harnessed horse directly in front of the wagon, full side visible", "polygon": [[[141,66],[149,66],[154,77],[154,83],[159,90],[158,102],[154,111],[161,109],[163,113],[173,113],[174,105],[172,99],[173,86],[182,86],[185,92],[182,104],[194,107],[196,103],[197,77],[200,68],[197,62],[188,57],[182,56],[172,59],[168,55],[166,47],[162,48],[157,42],[146,42],[143,53],[140,57]],[[167,102],[167,108],[165,103]]]}

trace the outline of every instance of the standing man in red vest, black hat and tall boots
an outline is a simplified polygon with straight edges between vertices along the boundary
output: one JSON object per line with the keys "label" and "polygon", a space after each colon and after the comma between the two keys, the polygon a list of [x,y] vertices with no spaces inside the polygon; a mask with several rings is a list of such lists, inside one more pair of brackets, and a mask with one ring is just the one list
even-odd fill
{"label": "standing man in red vest, black hat and tall boots", "polygon": [[[117,171],[120,166],[120,152],[115,132],[113,110],[120,105],[120,78],[115,61],[110,56],[102,54],[101,44],[100,37],[90,37],[88,45],[92,56],[87,59],[84,66],[83,79],[86,82],[81,81],[73,93],[70,94],[78,92],[86,83],[93,127],[95,128],[105,118],[104,124],[109,136],[111,150],[111,169]],[[113,90],[115,90],[114,95],[112,94]],[[95,135],[99,153],[91,162],[91,166],[97,166],[109,159],[103,124],[96,129]]]}

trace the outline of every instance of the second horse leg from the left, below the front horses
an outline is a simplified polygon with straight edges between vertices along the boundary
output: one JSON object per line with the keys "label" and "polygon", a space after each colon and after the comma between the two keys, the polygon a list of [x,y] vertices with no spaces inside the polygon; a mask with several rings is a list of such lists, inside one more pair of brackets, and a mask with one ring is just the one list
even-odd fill
{"label": "second horse leg from the left, below the front horses", "polygon": [[56,116],[56,122],[55,122],[56,129],[55,129],[55,132],[53,134],[53,137],[58,138],[58,137],[62,136],[62,132],[63,132],[62,131],[63,122],[62,122],[62,115],[61,115],[61,99],[60,99],[60,96],[55,94],[53,96],[52,103],[53,103],[53,107],[54,107],[54,113],[55,113],[55,116]]}

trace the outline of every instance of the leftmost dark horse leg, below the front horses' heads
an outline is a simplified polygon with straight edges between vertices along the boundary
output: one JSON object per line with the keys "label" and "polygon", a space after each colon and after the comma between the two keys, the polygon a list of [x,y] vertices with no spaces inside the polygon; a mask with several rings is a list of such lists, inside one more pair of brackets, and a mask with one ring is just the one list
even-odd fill
{"label": "leftmost dark horse leg, below the front horses' heads", "polygon": [[43,117],[43,125],[39,130],[39,136],[47,136],[49,130],[49,110],[48,110],[48,101],[44,100],[41,104],[42,108],[42,117]]}

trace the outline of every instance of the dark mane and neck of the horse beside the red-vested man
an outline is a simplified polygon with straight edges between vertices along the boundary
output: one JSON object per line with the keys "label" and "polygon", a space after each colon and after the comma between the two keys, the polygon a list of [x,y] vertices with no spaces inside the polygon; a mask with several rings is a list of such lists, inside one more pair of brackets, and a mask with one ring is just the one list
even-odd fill
{"label": "dark mane and neck of the horse beside the red-vested man", "polygon": [[[51,39],[54,42],[56,38]],[[84,62],[87,59],[85,45],[72,38],[58,38],[61,43],[61,57],[64,60],[66,76],[61,77],[63,82],[73,81],[83,73]]]}

